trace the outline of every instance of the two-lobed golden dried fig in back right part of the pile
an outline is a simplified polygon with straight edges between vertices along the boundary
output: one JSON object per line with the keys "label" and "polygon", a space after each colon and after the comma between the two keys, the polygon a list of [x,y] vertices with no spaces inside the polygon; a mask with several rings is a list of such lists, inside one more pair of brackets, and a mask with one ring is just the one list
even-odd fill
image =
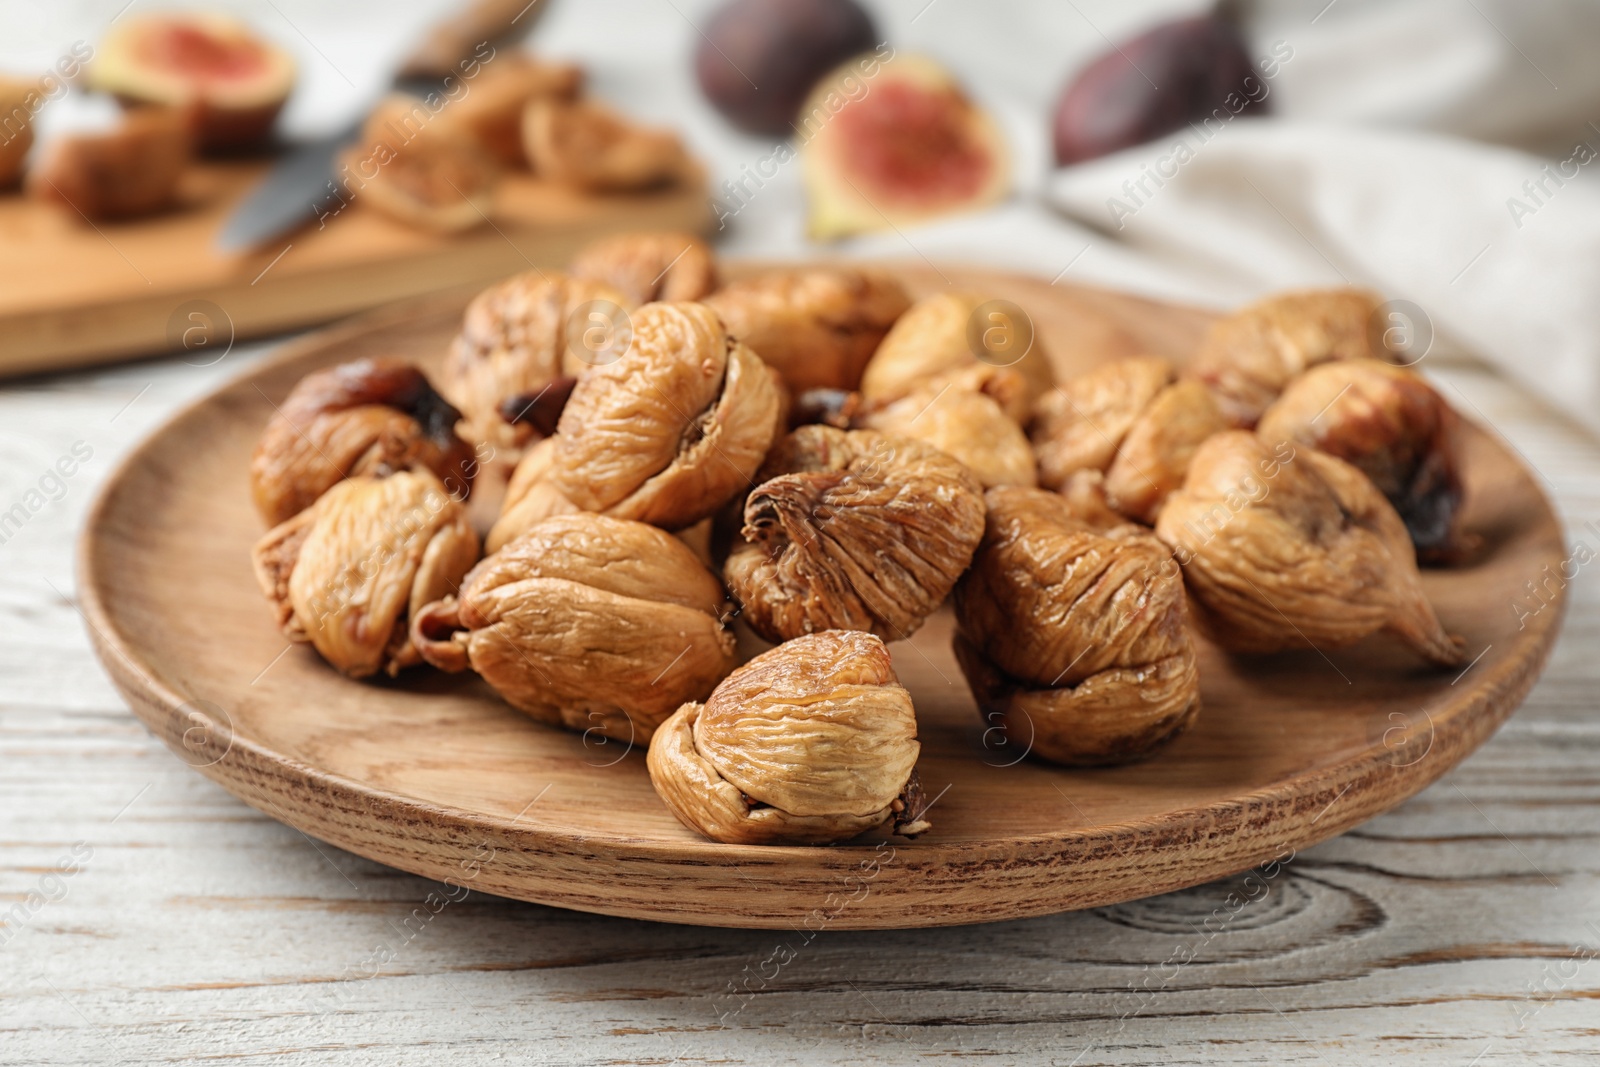
{"label": "two-lobed golden dried fig in back right part of the pile", "polygon": [[1166,360],[1117,360],[1038,402],[1032,429],[1038,480],[1061,488],[1080,470],[1099,470],[1107,504],[1149,525],[1182,485],[1200,442],[1226,429],[1210,390],[1173,382]]}

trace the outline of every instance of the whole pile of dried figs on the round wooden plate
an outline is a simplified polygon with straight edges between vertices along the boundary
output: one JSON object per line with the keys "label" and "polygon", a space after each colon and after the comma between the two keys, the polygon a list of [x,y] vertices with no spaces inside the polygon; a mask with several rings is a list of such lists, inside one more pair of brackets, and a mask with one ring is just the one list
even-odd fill
{"label": "whole pile of dried figs on the round wooden plate", "polygon": [[930,829],[886,643],[947,601],[973,734],[1061,766],[1173,742],[1203,640],[1464,659],[1418,573],[1475,544],[1461,424],[1376,358],[1376,298],[1058,382],[1002,299],[722,277],[691,235],[610,237],[474,299],[438,392],[384,358],[306,376],[251,464],[283,632],[648,745],[666,808],[736,845]]}

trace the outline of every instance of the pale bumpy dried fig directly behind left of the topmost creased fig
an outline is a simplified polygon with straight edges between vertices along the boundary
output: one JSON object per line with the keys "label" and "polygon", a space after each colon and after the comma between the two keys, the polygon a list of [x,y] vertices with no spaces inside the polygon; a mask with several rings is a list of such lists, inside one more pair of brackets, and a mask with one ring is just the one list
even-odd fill
{"label": "pale bumpy dried fig directly behind left of the topmost creased fig", "polygon": [[466,419],[462,435],[515,454],[534,427],[507,421],[506,400],[538,397],[555,379],[614,358],[627,347],[629,306],[610,285],[542,270],[478,293],[438,379]]}

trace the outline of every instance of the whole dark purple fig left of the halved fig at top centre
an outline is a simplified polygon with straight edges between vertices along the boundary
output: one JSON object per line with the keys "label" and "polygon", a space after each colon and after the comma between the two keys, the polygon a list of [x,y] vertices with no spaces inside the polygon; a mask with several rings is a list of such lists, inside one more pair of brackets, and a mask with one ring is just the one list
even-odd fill
{"label": "whole dark purple fig left of the halved fig at top centre", "polygon": [[728,122],[784,136],[818,78],[878,40],[854,0],[733,0],[706,22],[694,75]]}

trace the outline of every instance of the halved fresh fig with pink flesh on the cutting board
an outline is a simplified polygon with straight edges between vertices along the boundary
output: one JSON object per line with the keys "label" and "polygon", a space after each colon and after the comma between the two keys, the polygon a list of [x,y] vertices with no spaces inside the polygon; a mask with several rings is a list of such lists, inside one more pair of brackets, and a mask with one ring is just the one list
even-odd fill
{"label": "halved fresh fig with pink flesh on the cutting board", "polygon": [[130,14],[101,43],[88,85],[130,106],[192,107],[202,150],[238,152],[272,133],[294,61],[224,14]]}

